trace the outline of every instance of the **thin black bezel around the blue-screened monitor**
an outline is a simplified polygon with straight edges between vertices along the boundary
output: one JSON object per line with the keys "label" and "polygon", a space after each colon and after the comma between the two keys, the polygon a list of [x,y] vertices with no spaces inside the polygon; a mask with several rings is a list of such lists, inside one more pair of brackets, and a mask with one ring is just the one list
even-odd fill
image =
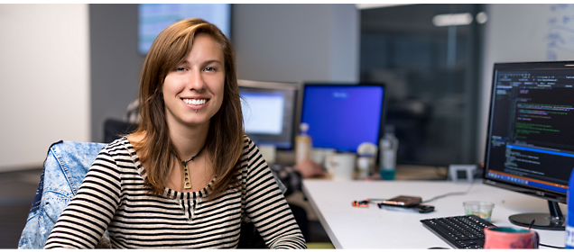
{"label": "thin black bezel around the blue-screened monitor", "polygon": [[[297,122],[299,124],[301,124],[302,118],[303,118],[303,102],[304,102],[304,97],[305,97],[305,89],[307,88],[307,86],[358,86],[358,85],[366,85],[366,86],[381,86],[381,88],[383,89],[383,97],[382,97],[382,102],[381,102],[381,118],[380,118],[380,122],[379,122],[379,132],[377,134],[377,139],[381,139],[381,136],[383,136],[383,131],[384,131],[384,119],[386,117],[386,85],[383,82],[305,82],[301,85],[301,92],[300,92],[300,99],[299,99],[299,108],[297,109],[297,112],[299,112],[299,114],[297,115]],[[379,140],[377,140],[376,142],[376,147],[379,148]]]}

